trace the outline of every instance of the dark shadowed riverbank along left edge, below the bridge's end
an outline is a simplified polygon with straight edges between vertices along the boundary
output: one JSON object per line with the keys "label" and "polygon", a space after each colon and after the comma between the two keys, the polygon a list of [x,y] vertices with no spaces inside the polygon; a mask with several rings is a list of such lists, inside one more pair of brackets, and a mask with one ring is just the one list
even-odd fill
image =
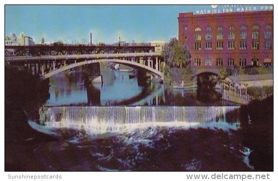
{"label": "dark shadowed riverbank along left edge, below the bridge's end", "polygon": [[56,141],[33,130],[28,117],[38,118],[37,106],[49,98],[49,82],[41,81],[24,67],[5,65],[5,171],[23,171],[11,152],[22,151],[21,145],[36,145]]}

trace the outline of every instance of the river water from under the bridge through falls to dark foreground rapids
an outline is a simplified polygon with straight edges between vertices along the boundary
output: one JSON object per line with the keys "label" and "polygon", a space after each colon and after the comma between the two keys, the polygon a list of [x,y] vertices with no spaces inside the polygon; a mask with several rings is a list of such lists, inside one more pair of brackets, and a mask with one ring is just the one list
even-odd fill
{"label": "river water from under the bridge through falls to dark foreground rapids", "polygon": [[196,89],[141,87],[128,72],[101,74],[93,85],[78,70],[50,78],[50,99],[29,124],[58,141],[35,147],[38,170],[254,170],[240,106],[199,102]]}

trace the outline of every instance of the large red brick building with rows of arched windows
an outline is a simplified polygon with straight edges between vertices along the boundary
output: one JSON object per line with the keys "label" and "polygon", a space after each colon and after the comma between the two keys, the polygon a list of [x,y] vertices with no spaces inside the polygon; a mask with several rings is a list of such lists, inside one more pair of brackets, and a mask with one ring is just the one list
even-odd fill
{"label": "large red brick building with rows of arched windows", "polygon": [[273,11],[178,15],[192,67],[273,66]]}

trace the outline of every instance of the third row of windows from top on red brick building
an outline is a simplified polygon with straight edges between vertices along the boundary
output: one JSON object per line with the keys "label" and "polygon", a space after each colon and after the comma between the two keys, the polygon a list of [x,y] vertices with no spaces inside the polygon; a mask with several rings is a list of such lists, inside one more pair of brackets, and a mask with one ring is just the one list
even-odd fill
{"label": "third row of windows from top on red brick building", "polygon": [[[265,40],[265,49],[271,50],[272,49],[272,41]],[[194,43],[194,49],[195,50],[201,50],[201,42],[197,41]],[[206,50],[212,50],[213,49],[213,42],[212,41],[206,41],[205,42],[205,49]],[[222,50],[223,49],[223,41],[217,41],[216,42],[216,49]],[[235,42],[234,41],[228,41],[227,42],[227,49],[228,50],[234,50],[235,49]],[[240,41],[239,42],[239,49],[240,50],[247,50],[247,41]],[[259,50],[260,49],[260,41],[254,40],[252,41],[251,45],[252,50]]]}

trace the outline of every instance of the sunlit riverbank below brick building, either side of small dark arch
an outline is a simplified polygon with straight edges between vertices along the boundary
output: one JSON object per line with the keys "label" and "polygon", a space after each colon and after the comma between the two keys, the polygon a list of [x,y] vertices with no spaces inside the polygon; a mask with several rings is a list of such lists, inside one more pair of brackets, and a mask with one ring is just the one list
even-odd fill
{"label": "sunlit riverbank below brick building, either side of small dark arch", "polygon": [[[194,77],[193,73],[194,70],[191,68],[178,69],[166,67],[165,82],[173,89],[197,88],[196,77]],[[222,100],[224,101],[239,105],[248,105],[252,100],[263,100],[273,95],[273,73],[270,73],[273,72],[273,69],[222,68],[220,72],[220,78],[224,79],[228,86],[231,86],[231,88],[226,87],[224,91],[223,82],[219,82],[216,85],[216,88],[222,90]],[[246,87],[247,90],[245,90]]]}

